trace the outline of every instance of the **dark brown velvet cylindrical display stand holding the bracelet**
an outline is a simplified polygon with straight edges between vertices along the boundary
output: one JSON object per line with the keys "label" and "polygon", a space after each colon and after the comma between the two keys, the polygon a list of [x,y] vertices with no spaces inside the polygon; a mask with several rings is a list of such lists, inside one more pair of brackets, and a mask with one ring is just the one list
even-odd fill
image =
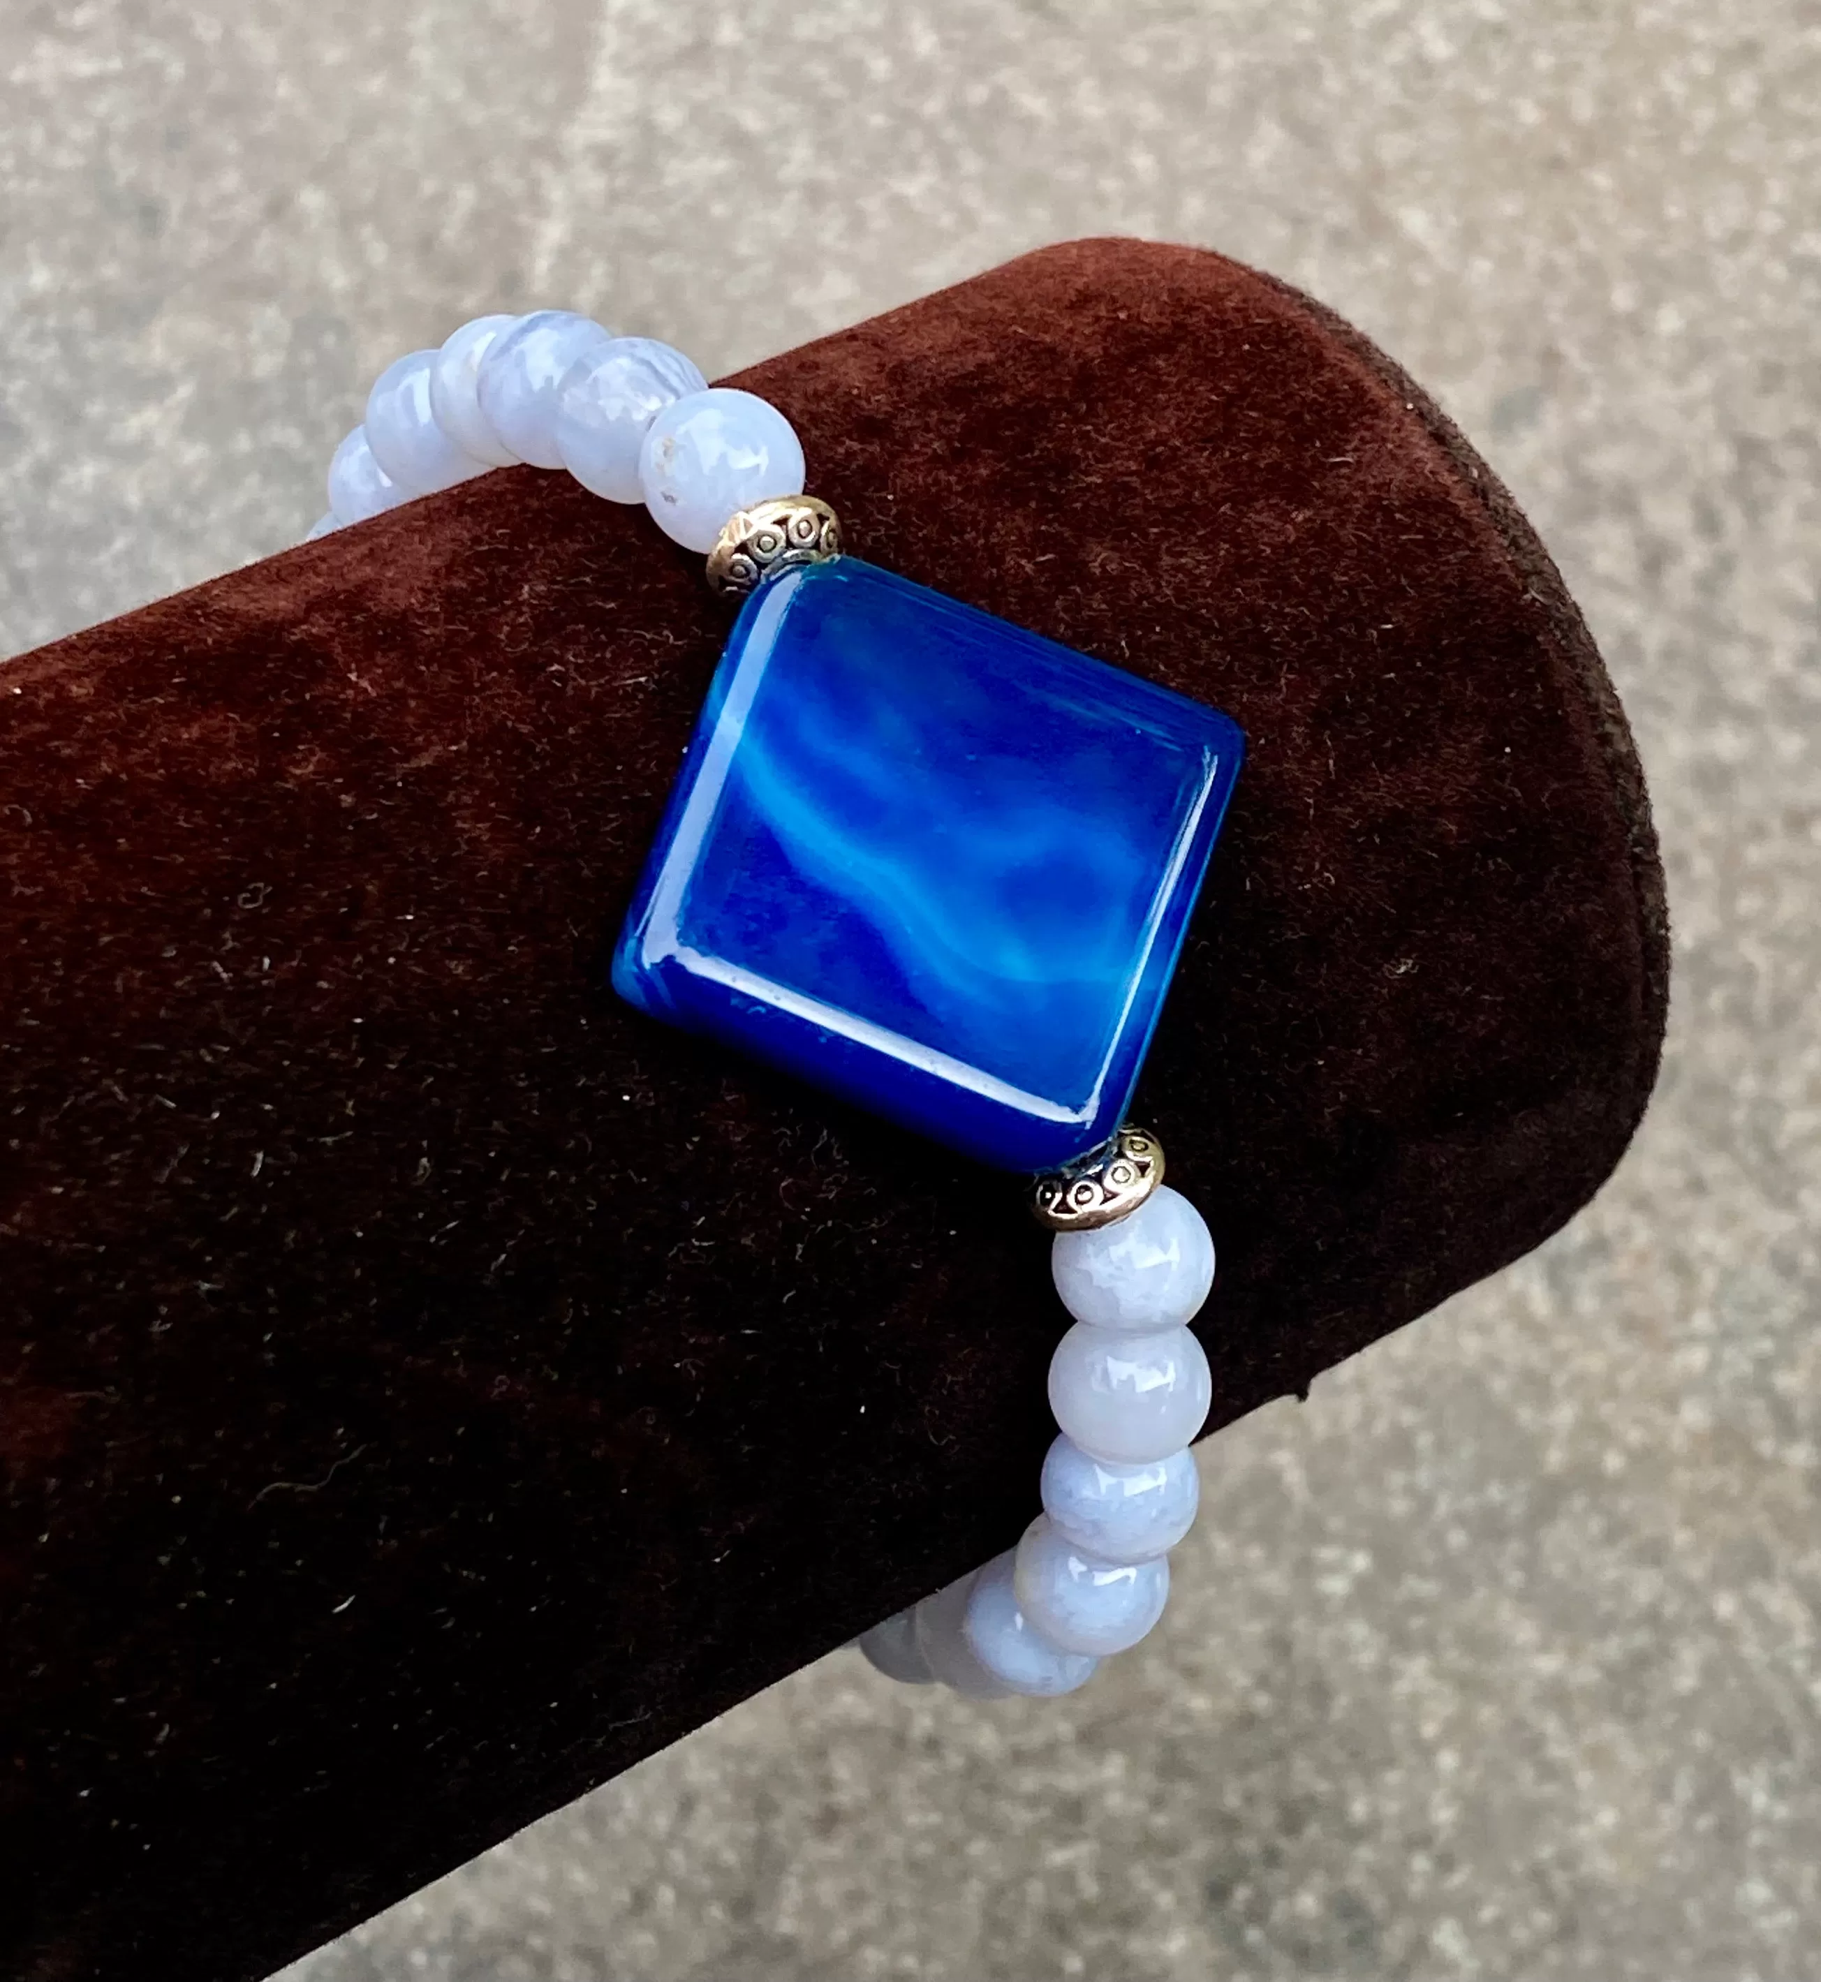
{"label": "dark brown velvet cylindrical display stand holding the bracelet", "polygon": [[[1643,781],[1391,363],[1080,242],[741,383],[862,557],[1246,729],[1133,1110],[1211,1429],[1587,1201]],[[725,624],[507,470],[0,668],[0,1974],[264,1976],[1034,1512],[1017,1181],[604,989]]]}

